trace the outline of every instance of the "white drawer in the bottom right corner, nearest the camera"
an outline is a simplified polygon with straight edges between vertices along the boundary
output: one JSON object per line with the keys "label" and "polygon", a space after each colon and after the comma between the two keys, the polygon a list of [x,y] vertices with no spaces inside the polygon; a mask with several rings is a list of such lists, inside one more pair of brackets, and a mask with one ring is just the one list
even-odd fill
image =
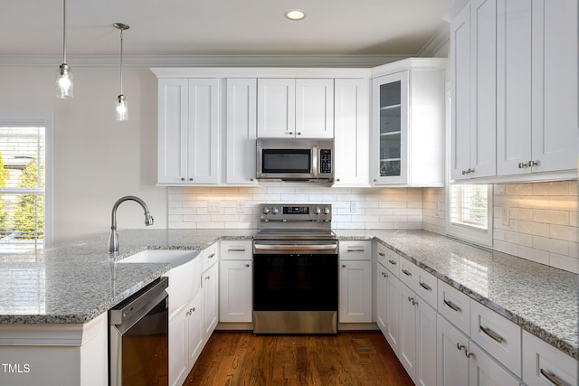
{"label": "white drawer in the bottom right corner, nearest the camera", "polygon": [[528,386],[576,385],[577,361],[523,331],[523,381]]}

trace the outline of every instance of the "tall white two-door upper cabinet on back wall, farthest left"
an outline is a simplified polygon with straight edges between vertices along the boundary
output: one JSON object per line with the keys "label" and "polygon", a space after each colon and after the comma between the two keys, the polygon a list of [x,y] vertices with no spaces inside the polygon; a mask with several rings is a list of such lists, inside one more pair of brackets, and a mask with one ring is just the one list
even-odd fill
{"label": "tall white two-door upper cabinet on back wall, farthest left", "polygon": [[158,105],[158,184],[216,184],[219,80],[159,80]]}

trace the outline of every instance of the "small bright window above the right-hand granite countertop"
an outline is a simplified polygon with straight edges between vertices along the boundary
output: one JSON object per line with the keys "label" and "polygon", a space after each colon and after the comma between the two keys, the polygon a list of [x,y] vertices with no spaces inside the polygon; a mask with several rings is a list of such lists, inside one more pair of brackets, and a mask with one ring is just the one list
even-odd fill
{"label": "small bright window above the right-hand granite countertop", "polygon": [[449,186],[447,232],[460,239],[492,246],[492,185]]}

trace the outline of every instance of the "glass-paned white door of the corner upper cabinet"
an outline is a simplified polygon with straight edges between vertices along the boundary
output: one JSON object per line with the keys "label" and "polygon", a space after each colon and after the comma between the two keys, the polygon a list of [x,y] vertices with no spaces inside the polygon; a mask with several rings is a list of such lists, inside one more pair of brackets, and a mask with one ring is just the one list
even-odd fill
{"label": "glass-paned white door of the corner upper cabinet", "polygon": [[405,184],[408,150],[408,71],[373,80],[373,183]]}

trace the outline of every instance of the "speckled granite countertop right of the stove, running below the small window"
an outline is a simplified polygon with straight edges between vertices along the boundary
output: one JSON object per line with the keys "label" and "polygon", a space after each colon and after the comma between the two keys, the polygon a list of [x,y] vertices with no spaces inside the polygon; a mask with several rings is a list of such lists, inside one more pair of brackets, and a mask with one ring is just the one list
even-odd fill
{"label": "speckled granite countertop right of the stove, running below the small window", "polygon": [[375,237],[436,277],[579,359],[579,277],[428,231],[336,230],[340,240]]}

